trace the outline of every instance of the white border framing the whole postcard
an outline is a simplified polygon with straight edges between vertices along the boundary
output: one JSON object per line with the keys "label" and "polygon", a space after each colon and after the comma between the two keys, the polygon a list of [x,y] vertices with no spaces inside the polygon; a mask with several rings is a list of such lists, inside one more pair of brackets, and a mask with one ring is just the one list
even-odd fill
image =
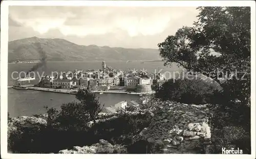
{"label": "white border framing the whole postcard", "polygon": [[9,6],[145,6],[145,7],[198,7],[249,6],[251,7],[251,154],[144,154],[142,157],[189,158],[255,158],[255,2],[254,1],[2,1],[1,3],[1,156],[2,158],[130,158],[136,154],[10,154],[7,153],[7,76],[8,72],[8,9]]}

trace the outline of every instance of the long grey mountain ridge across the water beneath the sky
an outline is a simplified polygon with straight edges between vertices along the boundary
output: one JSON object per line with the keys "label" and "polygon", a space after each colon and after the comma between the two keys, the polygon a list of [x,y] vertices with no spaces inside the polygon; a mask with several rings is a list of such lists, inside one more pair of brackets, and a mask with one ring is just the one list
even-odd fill
{"label": "long grey mountain ridge across the water beneath the sky", "polygon": [[46,39],[30,37],[10,41],[8,44],[8,61],[39,60],[38,43],[46,53],[47,61],[97,61],[121,60],[144,61],[158,60],[157,49],[125,49],[98,47],[95,45],[80,46],[65,39]]}

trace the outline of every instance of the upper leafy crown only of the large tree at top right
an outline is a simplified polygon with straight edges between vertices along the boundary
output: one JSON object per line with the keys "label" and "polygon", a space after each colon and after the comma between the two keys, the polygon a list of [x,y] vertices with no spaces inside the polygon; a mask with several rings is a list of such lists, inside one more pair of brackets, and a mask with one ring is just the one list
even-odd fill
{"label": "upper leafy crown only of the large tree at top right", "polygon": [[217,70],[228,75],[236,69],[244,71],[250,64],[250,8],[198,9],[194,27],[183,27],[158,44],[165,65],[176,62],[216,81]]}

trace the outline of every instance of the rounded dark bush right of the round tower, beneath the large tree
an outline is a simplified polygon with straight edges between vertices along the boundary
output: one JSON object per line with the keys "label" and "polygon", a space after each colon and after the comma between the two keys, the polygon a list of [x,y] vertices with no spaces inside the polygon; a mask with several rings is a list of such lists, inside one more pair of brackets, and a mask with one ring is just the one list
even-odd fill
{"label": "rounded dark bush right of the round tower, beneath the large tree", "polygon": [[217,86],[201,79],[170,79],[156,90],[156,97],[186,104],[206,104]]}

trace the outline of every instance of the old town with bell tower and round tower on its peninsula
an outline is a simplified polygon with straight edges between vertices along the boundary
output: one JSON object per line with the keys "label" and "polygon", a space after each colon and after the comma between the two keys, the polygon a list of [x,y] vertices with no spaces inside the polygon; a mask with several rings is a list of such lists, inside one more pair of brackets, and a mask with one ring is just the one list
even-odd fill
{"label": "old town with bell tower and round tower on its peninsula", "polygon": [[[117,70],[106,66],[103,60],[100,70],[75,70],[43,76],[28,89],[56,93],[75,94],[80,88],[92,88],[95,93],[119,93],[147,95],[165,82],[163,74],[147,73],[145,70]],[[28,75],[27,75],[28,76]],[[16,81],[14,85],[24,85]]]}

